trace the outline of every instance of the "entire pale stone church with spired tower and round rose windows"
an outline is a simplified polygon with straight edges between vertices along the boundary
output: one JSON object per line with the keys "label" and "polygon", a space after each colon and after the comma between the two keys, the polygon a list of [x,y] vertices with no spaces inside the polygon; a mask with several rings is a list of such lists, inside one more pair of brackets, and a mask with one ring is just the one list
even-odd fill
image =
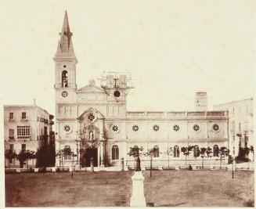
{"label": "entire pale stone church with spired tower and round rose windows", "polygon": [[[100,86],[95,81],[78,88],[72,33],[67,12],[54,56],[56,92],[56,151],[65,147],[76,153],[74,164],[88,167],[90,159],[98,167],[134,165],[128,156],[130,147],[143,150],[155,147],[155,165],[182,164],[183,146],[194,146],[187,160],[199,164],[200,147],[229,147],[229,116],[227,111],[207,111],[206,92],[197,92],[192,112],[131,112],[126,110],[127,94],[132,88],[130,74],[104,74]],[[171,154],[166,154],[171,148]],[[218,154],[211,164],[218,163]],[[141,164],[148,165],[149,157]],[[210,163],[210,161],[208,161]],[[60,165],[56,159],[56,166]],[[65,165],[70,164],[67,157]]]}

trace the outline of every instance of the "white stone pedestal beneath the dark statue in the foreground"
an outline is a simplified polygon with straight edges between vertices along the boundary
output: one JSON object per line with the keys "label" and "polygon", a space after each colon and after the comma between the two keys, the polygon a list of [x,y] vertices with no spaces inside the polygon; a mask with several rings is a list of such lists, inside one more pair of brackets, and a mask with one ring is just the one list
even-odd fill
{"label": "white stone pedestal beneath the dark statue in the foreground", "polygon": [[132,176],[132,197],[130,207],[146,207],[146,198],[144,196],[144,176],[142,171],[135,171]]}

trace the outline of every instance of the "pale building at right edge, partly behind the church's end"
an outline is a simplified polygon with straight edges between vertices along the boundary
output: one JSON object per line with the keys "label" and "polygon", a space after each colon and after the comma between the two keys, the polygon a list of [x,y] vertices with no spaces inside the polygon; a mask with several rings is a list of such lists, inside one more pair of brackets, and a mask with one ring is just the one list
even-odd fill
{"label": "pale building at right edge, partly behind the church's end", "polygon": [[[254,99],[243,99],[214,106],[214,110],[229,111],[229,150],[234,147],[236,157],[240,157],[240,147],[254,146]],[[253,159],[252,154],[249,154]]]}

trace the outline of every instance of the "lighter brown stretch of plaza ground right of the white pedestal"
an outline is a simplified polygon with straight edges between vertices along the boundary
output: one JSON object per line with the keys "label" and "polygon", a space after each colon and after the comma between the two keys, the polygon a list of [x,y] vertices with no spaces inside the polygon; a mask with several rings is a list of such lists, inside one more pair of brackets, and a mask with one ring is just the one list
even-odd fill
{"label": "lighter brown stretch of plaza ground right of the white pedestal", "polygon": [[146,202],[155,207],[247,207],[254,171],[144,171]]}

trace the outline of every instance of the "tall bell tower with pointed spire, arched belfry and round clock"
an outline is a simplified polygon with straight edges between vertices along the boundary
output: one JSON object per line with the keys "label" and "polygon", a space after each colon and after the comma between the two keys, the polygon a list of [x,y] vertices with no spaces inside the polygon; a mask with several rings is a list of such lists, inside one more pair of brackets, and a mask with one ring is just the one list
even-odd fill
{"label": "tall bell tower with pointed spire, arched belfry and round clock", "polygon": [[[62,31],[59,33],[58,47],[53,60],[55,61],[56,103],[72,102],[75,99],[76,64],[78,59],[74,55],[72,33],[68,23],[67,11],[63,20]],[[63,101],[64,99],[64,101]]]}

